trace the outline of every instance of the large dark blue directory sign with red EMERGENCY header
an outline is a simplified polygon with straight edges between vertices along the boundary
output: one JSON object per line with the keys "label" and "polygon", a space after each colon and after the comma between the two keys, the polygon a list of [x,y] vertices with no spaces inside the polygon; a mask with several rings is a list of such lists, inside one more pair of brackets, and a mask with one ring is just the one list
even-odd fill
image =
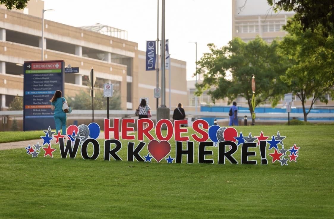
{"label": "large dark blue directory sign with red EMERGENCY header", "polygon": [[64,61],[27,61],[23,68],[23,131],[55,128],[50,100],[64,96]]}

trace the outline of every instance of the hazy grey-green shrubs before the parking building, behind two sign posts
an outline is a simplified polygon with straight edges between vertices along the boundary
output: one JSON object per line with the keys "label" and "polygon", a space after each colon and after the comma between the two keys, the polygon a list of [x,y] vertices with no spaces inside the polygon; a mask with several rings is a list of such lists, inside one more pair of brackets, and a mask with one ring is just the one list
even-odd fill
{"label": "hazy grey-green shrubs before the parking building, behind two sign posts", "polygon": [[[75,97],[69,97],[67,101],[72,109],[79,110],[91,110],[92,109],[92,97],[90,90],[81,90]],[[95,110],[106,110],[107,109],[107,97],[103,96],[103,90],[94,90],[94,109]],[[119,92],[114,92],[113,96],[109,98],[109,109],[120,110],[121,109],[121,96]]]}

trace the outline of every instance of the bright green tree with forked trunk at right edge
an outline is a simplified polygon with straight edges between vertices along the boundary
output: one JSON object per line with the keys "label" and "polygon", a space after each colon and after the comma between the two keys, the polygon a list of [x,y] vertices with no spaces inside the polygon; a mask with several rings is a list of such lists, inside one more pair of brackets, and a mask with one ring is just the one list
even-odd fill
{"label": "bright green tree with forked trunk at right edge", "polygon": [[[301,100],[306,122],[317,100],[327,104],[326,94],[334,97],[334,39],[324,37],[321,26],[304,31],[298,18],[289,20],[283,29],[289,34],[283,38],[279,51],[288,56],[290,67],[280,78],[289,92]],[[308,99],[311,103],[306,109]]]}

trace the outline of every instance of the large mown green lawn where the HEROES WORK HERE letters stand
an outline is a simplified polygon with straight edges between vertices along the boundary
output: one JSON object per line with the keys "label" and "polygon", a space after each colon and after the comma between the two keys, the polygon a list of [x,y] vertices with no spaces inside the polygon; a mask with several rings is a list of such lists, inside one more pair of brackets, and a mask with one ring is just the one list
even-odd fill
{"label": "large mown green lawn where the HEROES WORK HERE letters stand", "polygon": [[[79,152],[62,159],[58,145],[52,145],[53,158],[43,157],[43,150],[37,158],[23,148],[0,150],[0,218],[334,218],[334,126],[236,129],[253,137],[279,131],[287,136],[285,149],[300,147],[297,163],[272,164],[267,155],[268,165],[241,165],[239,148],[239,164],[217,164],[218,149],[207,147],[213,156],[206,159],[214,164],[198,164],[198,143],[194,164],[185,157],[182,164],[126,161],[124,140],[123,161],[103,160],[103,140],[97,160]],[[250,151],[260,163],[259,148]],[[145,146],[140,155],[147,153]]]}

